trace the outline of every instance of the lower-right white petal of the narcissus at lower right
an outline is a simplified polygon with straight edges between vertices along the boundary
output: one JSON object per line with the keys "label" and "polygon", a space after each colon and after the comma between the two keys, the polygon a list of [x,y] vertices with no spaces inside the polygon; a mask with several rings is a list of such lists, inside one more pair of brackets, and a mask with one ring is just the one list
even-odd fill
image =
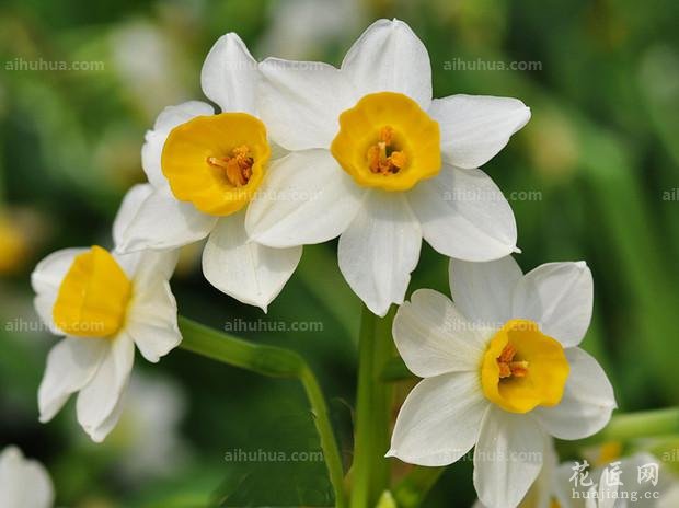
{"label": "lower-right white petal of the narcissus at lower right", "polygon": [[571,373],[563,399],[554,407],[533,409],[538,422],[559,439],[584,439],[601,430],[617,407],[611,386],[601,366],[589,354],[566,349]]}

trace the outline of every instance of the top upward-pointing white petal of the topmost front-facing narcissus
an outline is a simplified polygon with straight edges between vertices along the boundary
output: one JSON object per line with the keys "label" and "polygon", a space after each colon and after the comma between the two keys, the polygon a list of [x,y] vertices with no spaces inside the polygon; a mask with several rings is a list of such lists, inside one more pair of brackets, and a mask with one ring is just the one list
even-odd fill
{"label": "top upward-pointing white petal of the topmost front-facing narcissus", "polygon": [[362,96],[399,92],[423,109],[431,103],[429,54],[411,27],[399,20],[378,20],[354,43],[342,62],[345,73]]}

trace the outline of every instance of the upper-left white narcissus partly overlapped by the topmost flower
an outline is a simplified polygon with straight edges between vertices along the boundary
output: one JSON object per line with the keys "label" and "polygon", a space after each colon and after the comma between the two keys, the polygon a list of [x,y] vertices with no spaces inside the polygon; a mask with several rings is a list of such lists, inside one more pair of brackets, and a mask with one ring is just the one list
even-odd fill
{"label": "upper-left white narcissus partly overlapped by the topmost flower", "polygon": [[[204,102],[165,108],[141,152],[148,197],[122,231],[122,252],[179,247],[208,238],[203,272],[222,292],[266,311],[301,257],[248,239],[245,209],[275,162],[257,118],[257,62],[235,34],[222,36],[202,72]],[[274,200],[295,199],[278,195]],[[271,203],[271,201],[269,201]]]}

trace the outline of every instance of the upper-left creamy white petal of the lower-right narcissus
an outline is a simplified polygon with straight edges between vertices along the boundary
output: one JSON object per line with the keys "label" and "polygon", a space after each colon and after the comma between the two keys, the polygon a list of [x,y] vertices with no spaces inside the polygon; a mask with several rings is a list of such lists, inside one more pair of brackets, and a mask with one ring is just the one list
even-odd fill
{"label": "upper-left creamy white petal of the lower-right narcissus", "polygon": [[393,337],[407,368],[421,378],[477,371],[486,345],[484,331],[431,289],[418,289],[399,308]]}

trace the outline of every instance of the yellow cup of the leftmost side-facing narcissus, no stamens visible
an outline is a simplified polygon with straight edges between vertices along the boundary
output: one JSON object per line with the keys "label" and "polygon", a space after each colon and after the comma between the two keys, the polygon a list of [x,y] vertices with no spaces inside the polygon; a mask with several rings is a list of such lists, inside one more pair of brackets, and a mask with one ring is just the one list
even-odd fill
{"label": "yellow cup of the leftmost side-facing narcissus, no stamens visible", "polygon": [[133,284],[115,258],[93,246],[76,256],[53,309],[59,330],[78,337],[108,337],[125,322]]}

